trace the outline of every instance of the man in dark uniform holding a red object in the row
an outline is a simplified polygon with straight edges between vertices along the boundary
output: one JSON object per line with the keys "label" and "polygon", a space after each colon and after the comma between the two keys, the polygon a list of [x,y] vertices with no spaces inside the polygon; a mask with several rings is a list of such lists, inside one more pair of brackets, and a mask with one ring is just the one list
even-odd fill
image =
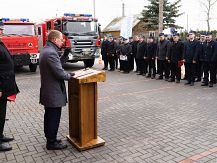
{"label": "man in dark uniform holding a red object in the row", "polygon": [[170,49],[168,51],[168,62],[171,65],[171,78],[169,82],[180,83],[181,80],[181,65],[180,62],[183,60],[183,49],[184,44],[179,38],[179,34],[175,33],[173,35],[173,42],[171,43]]}

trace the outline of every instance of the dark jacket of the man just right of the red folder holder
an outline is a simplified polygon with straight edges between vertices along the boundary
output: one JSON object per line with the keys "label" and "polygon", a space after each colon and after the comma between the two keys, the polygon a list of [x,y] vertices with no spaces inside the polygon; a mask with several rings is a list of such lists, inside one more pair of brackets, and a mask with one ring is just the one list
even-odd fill
{"label": "dark jacket of the man just right of the red folder holder", "polygon": [[183,56],[186,63],[192,63],[193,60],[197,61],[196,49],[199,46],[199,41],[186,41],[184,43]]}

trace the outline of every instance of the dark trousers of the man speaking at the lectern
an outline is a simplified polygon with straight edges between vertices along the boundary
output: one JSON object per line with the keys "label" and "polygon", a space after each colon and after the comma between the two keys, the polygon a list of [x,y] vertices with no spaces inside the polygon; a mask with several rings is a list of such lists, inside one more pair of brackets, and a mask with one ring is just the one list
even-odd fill
{"label": "dark trousers of the man speaking at the lectern", "polygon": [[53,143],[57,138],[62,108],[45,107],[44,133],[47,143]]}

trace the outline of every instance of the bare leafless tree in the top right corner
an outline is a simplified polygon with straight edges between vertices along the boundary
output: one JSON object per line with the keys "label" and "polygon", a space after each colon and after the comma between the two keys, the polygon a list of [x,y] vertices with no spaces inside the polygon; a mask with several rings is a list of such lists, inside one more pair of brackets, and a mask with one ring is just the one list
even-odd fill
{"label": "bare leafless tree in the top right corner", "polygon": [[217,0],[200,0],[200,2],[206,14],[207,30],[210,31],[210,20],[212,19],[211,12]]}

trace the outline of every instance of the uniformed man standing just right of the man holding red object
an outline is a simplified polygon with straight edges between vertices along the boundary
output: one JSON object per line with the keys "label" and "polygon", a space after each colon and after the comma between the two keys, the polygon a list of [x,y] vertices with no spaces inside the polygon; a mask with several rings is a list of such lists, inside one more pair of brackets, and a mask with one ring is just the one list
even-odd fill
{"label": "uniformed man standing just right of the man holding red object", "polygon": [[199,41],[195,39],[195,32],[189,32],[189,40],[184,43],[184,62],[185,62],[185,73],[187,77],[187,83],[185,85],[194,86],[195,82],[195,71],[197,62],[196,49],[199,45]]}

